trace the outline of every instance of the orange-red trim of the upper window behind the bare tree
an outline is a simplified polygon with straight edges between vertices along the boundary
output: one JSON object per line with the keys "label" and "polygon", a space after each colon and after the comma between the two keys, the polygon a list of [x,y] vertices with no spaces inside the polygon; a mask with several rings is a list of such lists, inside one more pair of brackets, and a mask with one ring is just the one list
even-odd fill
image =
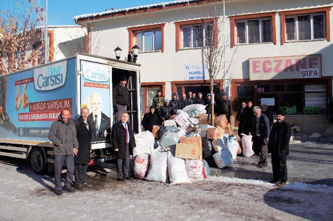
{"label": "orange-red trim of the upper window behind the bare tree", "polygon": [[218,47],[218,19],[219,17],[217,17],[216,19],[214,18],[206,18],[206,19],[196,19],[196,20],[189,20],[189,21],[177,21],[174,22],[175,26],[176,26],[176,52],[179,51],[179,49],[181,49],[181,30],[180,27],[184,26],[184,25],[197,25],[197,24],[207,24],[210,22],[214,21],[214,37],[215,37],[215,47]]}

